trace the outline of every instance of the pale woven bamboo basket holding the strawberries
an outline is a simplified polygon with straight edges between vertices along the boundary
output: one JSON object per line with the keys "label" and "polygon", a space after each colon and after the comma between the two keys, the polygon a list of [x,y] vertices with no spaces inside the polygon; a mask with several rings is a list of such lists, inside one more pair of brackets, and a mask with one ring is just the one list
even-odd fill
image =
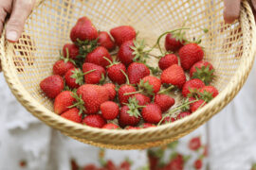
{"label": "pale woven bamboo basket holding the strawberries", "polygon": [[[224,24],[223,8],[222,0],[46,0],[34,8],[19,42],[9,43],[5,35],[1,37],[3,72],[10,90],[28,111],[82,143],[114,149],[168,144],[206,123],[229,104],[251,70],[256,47],[251,8],[243,1],[240,19],[232,25]],[[108,130],[65,120],[52,111],[52,100],[41,92],[39,83],[52,74],[59,50],[69,42],[69,30],[81,16],[88,16],[100,30],[134,26],[149,45],[185,20],[192,28],[187,33],[189,39],[204,34],[201,28],[208,28],[201,45],[205,59],[215,67],[213,85],[219,95],[191,116],[159,127]]]}

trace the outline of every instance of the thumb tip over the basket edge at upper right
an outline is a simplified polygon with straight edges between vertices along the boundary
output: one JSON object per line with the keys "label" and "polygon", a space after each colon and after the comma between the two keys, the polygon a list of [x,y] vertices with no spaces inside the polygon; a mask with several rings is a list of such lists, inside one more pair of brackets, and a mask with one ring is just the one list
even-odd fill
{"label": "thumb tip over the basket edge at upper right", "polygon": [[241,0],[224,0],[224,20],[231,24],[239,18]]}

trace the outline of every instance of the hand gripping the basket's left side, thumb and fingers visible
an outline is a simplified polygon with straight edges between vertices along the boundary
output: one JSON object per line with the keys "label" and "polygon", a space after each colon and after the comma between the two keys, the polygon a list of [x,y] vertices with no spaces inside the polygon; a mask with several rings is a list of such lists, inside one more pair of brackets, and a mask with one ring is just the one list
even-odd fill
{"label": "hand gripping the basket's left side, thumb and fingers visible", "polygon": [[20,38],[26,19],[35,5],[35,0],[0,0],[0,35],[7,16],[6,38],[17,42]]}

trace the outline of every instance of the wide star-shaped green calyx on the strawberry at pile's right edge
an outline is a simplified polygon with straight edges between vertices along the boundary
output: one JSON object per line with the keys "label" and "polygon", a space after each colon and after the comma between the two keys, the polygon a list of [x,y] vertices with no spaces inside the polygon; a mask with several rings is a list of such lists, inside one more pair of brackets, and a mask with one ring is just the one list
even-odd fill
{"label": "wide star-shaped green calyx on the strawberry at pile's right edge", "polygon": [[198,78],[204,81],[206,85],[209,85],[212,79],[215,77],[213,75],[214,69],[210,70],[210,66],[202,66],[201,68],[195,67],[195,72],[192,74],[192,78]]}

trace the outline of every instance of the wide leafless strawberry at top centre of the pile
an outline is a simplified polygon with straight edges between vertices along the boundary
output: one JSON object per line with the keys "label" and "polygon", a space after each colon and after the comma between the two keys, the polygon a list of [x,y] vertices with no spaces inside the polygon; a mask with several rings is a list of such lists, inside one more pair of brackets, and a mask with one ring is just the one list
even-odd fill
{"label": "wide leafless strawberry at top centre of the pile", "polygon": [[119,46],[123,42],[131,41],[136,38],[136,31],[132,26],[118,26],[112,28],[110,34]]}

